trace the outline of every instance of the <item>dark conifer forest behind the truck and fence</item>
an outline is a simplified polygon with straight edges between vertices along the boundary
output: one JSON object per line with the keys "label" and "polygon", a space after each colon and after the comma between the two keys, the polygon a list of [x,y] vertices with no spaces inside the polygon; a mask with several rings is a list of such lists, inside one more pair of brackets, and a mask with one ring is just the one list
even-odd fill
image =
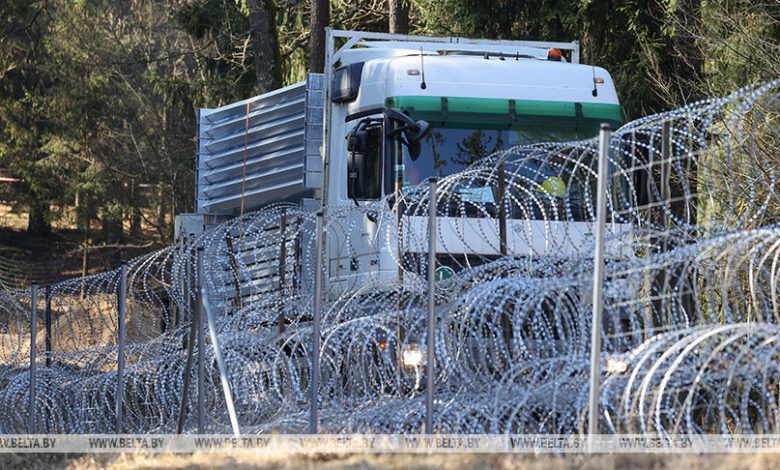
{"label": "dark conifer forest behind the truck and fence", "polygon": [[321,70],[326,24],[579,40],[629,119],[780,76],[780,0],[3,0],[0,283],[169,243],[197,109]]}

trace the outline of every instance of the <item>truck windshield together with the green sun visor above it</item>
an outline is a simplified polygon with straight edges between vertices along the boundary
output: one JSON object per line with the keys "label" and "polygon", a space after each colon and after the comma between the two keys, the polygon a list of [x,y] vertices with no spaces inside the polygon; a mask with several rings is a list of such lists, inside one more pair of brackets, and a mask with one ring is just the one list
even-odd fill
{"label": "truck windshield together with the green sun visor above it", "polygon": [[[623,121],[620,106],[607,103],[397,96],[387,98],[385,104],[431,125],[420,142],[418,158],[413,160],[405,146],[393,146],[393,180],[411,198],[419,191],[416,186],[429,177],[462,172],[517,146],[590,139],[598,135],[602,122],[618,128]],[[573,177],[571,162],[558,161],[558,156],[543,156],[541,161],[532,153],[516,151],[505,160],[515,179],[514,186],[507,187],[507,195],[514,201],[512,217],[589,220],[589,200],[595,192],[595,187],[589,186],[595,181],[580,176],[581,169]],[[622,193],[624,189],[615,187],[613,191]],[[451,199],[460,201],[456,206],[461,215],[481,217],[496,209],[495,185],[467,177],[451,187],[451,192]]]}

